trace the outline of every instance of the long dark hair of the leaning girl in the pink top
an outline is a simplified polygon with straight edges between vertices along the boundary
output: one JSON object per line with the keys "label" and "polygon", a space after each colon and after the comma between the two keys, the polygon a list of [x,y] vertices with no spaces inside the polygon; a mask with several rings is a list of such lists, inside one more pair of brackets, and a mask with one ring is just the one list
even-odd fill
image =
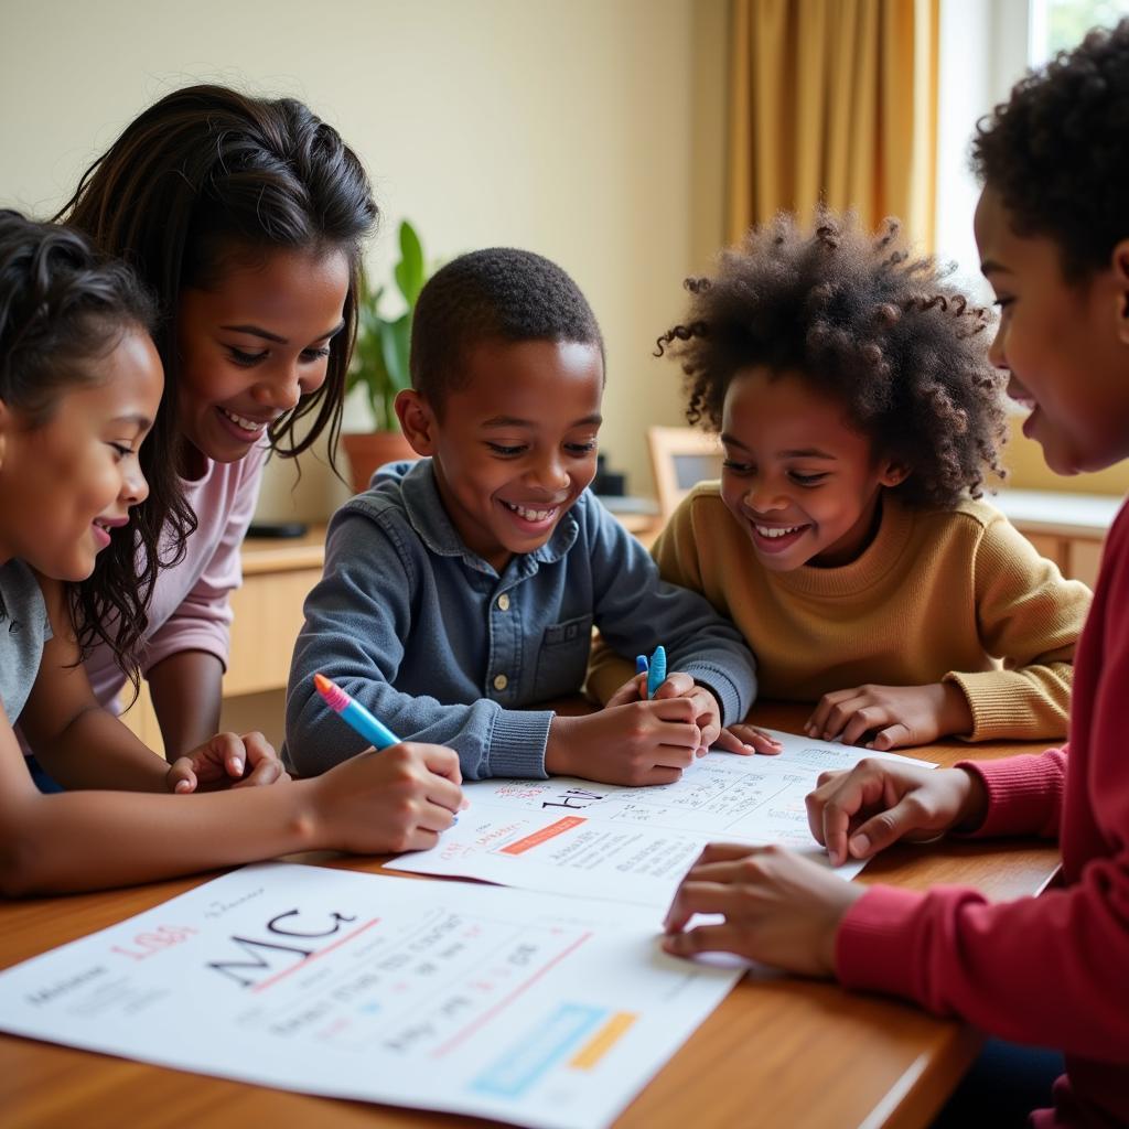
{"label": "long dark hair of the leaning girl in the pink top", "polygon": [[[364,166],[336,130],[294,98],[186,87],[134,119],[86,170],[55,218],[124,259],[160,301],[154,338],[165,365],[165,395],[142,448],[147,478],[178,449],[181,292],[212,285],[240,255],[343,251],[350,263],[345,324],[330,342],[325,383],[268,430],[273,449],[288,458],[329,429],[330,464],[336,469],[345,375],[357,336],[361,242],[378,218]],[[170,551],[163,564],[175,563],[194,528],[180,489],[150,488],[141,508],[169,524]]]}

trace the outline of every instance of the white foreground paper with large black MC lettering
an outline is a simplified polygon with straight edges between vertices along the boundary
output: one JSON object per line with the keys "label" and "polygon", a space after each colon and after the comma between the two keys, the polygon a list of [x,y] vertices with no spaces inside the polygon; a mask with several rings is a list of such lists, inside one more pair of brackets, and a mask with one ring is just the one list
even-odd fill
{"label": "white foreground paper with large black MC lettering", "polygon": [[285,1089],[605,1126],[739,969],[609,902],[236,870],[0,973],[0,1030]]}

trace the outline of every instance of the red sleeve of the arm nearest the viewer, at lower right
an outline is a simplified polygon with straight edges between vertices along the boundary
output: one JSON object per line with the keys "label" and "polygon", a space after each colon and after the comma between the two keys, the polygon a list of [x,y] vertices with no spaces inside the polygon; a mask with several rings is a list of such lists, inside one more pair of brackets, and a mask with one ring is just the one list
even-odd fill
{"label": "red sleeve of the arm nearest the viewer, at lower right", "polygon": [[1004,1039],[1123,1061],[1127,864],[1094,860],[1069,890],[998,904],[972,890],[874,886],[839,929],[839,978]]}

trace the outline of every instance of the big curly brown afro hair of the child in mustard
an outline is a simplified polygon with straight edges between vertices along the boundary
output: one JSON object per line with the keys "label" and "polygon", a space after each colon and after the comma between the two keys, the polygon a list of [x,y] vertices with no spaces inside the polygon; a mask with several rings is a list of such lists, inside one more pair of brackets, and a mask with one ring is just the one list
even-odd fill
{"label": "big curly brown afro hair of the child in mustard", "polygon": [[689,316],[657,342],[685,373],[691,423],[720,430],[742,369],[797,373],[842,402],[876,456],[912,473],[891,488],[913,506],[952,506],[1000,478],[1003,377],[988,361],[988,312],[912,257],[898,222],[873,236],[820,211],[814,230],[778,216],[686,279]]}

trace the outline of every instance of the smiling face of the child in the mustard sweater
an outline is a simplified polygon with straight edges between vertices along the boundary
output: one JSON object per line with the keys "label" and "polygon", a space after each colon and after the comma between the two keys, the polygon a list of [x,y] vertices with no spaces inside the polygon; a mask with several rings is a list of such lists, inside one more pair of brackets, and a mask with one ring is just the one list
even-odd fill
{"label": "smiling face of the child in the mustard sweater", "polygon": [[721,497],[773,572],[854,561],[874,536],[882,487],[905,478],[875,456],[841,404],[793,371],[738,373],[721,441]]}

